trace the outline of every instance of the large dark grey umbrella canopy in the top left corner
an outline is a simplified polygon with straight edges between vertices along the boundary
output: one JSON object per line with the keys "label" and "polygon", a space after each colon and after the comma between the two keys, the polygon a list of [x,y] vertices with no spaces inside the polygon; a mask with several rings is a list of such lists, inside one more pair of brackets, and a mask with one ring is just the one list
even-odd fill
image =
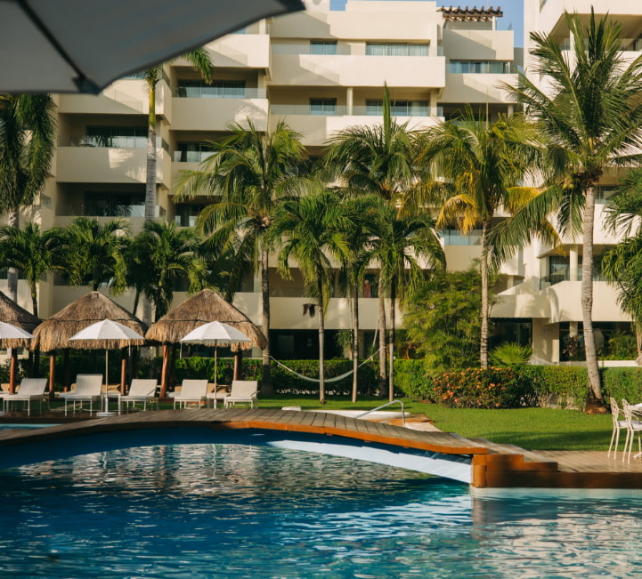
{"label": "large dark grey umbrella canopy in the top left corner", "polygon": [[89,92],[302,0],[5,0],[0,92]]}

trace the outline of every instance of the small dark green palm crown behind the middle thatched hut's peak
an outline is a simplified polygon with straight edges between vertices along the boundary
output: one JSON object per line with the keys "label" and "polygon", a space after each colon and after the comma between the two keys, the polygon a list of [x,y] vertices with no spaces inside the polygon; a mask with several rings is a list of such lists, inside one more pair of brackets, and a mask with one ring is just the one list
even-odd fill
{"label": "small dark green palm crown behind the middle thatched hut's peak", "polygon": [[102,225],[97,219],[76,217],[66,229],[66,261],[71,285],[87,284],[93,292],[101,285],[118,294],[126,287],[123,251],[129,228],[125,220]]}

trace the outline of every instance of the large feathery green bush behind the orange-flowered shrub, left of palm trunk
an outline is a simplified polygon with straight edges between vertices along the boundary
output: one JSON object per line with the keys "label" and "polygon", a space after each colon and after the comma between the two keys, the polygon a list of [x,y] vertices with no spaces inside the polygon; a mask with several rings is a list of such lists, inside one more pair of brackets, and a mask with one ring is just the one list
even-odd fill
{"label": "large feathery green bush behind the orange-flowered shrub, left of palm trunk", "polygon": [[435,272],[406,303],[403,324],[427,372],[475,366],[482,297],[479,269]]}

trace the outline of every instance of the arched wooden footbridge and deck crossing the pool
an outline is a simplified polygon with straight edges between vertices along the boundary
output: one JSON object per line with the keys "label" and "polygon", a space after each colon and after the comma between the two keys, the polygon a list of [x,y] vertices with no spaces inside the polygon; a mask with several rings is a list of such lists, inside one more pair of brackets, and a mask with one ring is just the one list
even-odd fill
{"label": "arched wooden footbridge and deck crossing the pool", "polygon": [[[67,422],[43,429],[0,430],[0,453],[40,441],[84,437],[102,432],[205,427],[211,430],[280,430],[353,439],[469,457],[472,486],[548,488],[636,488],[642,490],[642,460],[622,462],[605,452],[529,452],[484,439],[441,431],[410,430],[337,414],[280,409],[161,410]],[[606,433],[608,434],[608,433]]]}

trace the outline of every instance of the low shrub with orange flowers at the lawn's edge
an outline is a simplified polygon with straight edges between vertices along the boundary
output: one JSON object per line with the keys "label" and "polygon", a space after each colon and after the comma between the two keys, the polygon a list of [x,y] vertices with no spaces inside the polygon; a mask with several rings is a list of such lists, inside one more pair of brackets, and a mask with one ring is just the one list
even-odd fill
{"label": "low shrub with orange flowers at the lawn's edge", "polygon": [[530,398],[530,381],[519,380],[512,368],[468,368],[432,377],[431,397],[443,406],[516,408]]}

